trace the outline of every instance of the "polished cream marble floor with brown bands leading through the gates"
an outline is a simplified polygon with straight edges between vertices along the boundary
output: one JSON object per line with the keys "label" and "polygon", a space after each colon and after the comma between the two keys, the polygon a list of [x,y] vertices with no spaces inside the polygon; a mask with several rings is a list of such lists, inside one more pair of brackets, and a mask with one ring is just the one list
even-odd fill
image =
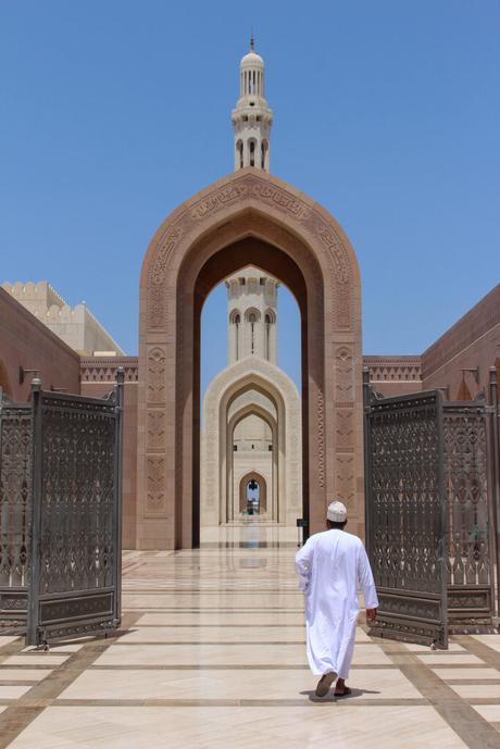
{"label": "polished cream marble floor with brown bands leading through the gates", "polygon": [[295,529],[124,554],[123,628],[49,652],[0,637],[0,749],[500,749],[500,636],[375,640],[352,696],[314,697]]}

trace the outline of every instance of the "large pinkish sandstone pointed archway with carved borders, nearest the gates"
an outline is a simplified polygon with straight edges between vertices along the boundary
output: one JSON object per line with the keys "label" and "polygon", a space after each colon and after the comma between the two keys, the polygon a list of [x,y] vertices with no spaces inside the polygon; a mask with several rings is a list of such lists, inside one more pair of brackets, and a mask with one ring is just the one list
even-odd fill
{"label": "large pinkish sandstone pointed archway with carved borders, nearest the gates", "polygon": [[240,170],[180,205],[142,264],[137,546],[199,539],[200,312],[251,263],[295,294],[302,320],[303,513],[324,527],[335,492],[362,530],[361,301],[358,263],[335,220],[290,186]]}

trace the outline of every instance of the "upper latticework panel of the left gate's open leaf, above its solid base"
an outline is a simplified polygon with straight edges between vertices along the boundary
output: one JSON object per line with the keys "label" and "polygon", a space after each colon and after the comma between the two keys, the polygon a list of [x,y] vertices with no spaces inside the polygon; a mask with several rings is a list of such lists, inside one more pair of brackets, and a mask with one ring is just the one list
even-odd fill
{"label": "upper latticework panel of the left gate's open leaf, above its solid base", "polygon": [[114,403],[42,398],[40,594],[113,584]]}

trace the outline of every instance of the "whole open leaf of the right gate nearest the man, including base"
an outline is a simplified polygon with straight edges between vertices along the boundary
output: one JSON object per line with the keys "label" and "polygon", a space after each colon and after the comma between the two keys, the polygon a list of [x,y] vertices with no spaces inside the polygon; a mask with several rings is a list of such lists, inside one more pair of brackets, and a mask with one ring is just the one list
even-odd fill
{"label": "whole open leaf of the right gate nearest the man, including base", "polygon": [[446,647],[440,398],[372,400],[367,542],[382,632]]}

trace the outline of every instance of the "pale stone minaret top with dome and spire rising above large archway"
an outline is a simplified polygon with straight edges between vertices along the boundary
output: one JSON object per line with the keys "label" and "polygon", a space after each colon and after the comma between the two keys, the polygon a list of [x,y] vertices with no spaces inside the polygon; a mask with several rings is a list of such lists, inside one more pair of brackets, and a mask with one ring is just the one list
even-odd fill
{"label": "pale stone minaret top with dome and spire rising above large archway", "polygon": [[239,65],[239,99],[232,112],[235,132],[235,172],[245,166],[270,171],[270,136],[273,112],[264,98],[264,61],[254,51],[253,36],[250,52]]}

